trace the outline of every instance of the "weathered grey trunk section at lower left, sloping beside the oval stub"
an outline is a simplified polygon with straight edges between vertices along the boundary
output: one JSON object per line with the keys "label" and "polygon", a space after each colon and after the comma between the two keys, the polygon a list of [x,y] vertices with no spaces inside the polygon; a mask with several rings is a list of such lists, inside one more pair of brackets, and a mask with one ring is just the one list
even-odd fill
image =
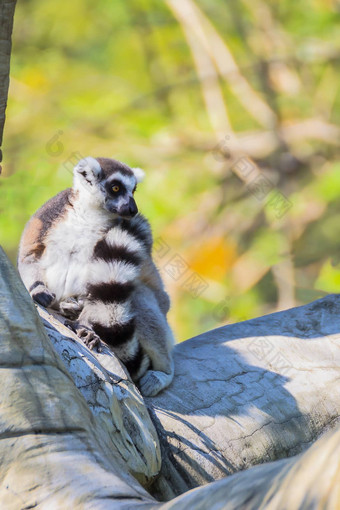
{"label": "weathered grey trunk section at lower left, sloping beside the oval stub", "polygon": [[0,336],[0,508],[151,508],[1,250]]}

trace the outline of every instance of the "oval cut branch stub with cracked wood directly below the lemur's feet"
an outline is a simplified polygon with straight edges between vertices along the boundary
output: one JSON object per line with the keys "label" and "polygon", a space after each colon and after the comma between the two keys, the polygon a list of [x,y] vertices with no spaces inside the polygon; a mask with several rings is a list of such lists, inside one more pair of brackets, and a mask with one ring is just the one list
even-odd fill
{"label": "oval cut branch stub with cracked wood directly below the lemur's feet", "polygon": [[40,307],[38,311],[65,368],[110,439],[110,449],[147,487],[160,471],[159,441],[143,398],[126,369],[107,347],[101,353],[90,351],[63,326],[62,317]]}

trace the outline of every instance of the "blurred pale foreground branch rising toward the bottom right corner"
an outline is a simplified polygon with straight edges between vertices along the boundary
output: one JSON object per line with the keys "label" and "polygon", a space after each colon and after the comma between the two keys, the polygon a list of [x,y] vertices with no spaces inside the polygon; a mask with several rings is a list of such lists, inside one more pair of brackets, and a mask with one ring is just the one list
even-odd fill
{"label": "blurred pale foreground branch rising toward the bottom right corner", "polygon": [[303,455],[277,460],[189,491],[161,510],[338,510],[340,429]]}

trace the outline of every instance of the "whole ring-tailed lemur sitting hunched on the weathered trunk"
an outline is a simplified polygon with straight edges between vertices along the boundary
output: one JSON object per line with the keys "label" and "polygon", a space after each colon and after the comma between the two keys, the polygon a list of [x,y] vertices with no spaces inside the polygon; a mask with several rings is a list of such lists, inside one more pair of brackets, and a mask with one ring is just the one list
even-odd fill
{"label": "whole ring-tailed lemur sitting hunched on the weathered trunk", "polygon": [[19,273],[34,301],[73,319],[90,348],[106,343],[142,394],[156,395],[173,378],[174,338],[150,225],[133,196],[144,172],[87,157],[73,173],[73,187],[27,223]]}

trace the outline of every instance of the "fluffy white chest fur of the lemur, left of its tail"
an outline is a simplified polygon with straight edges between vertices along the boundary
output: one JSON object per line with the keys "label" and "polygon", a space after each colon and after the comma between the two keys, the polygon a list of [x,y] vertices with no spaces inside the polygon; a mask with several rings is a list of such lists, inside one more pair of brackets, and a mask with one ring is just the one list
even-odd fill
{"label": "fluffy white chest fur of the lemur, left of its tail", "polygon": [[89,261],[108,222],[105,211],[78,205],[49,232],[41,262],[47,287],[57,300],[85,293]]}

